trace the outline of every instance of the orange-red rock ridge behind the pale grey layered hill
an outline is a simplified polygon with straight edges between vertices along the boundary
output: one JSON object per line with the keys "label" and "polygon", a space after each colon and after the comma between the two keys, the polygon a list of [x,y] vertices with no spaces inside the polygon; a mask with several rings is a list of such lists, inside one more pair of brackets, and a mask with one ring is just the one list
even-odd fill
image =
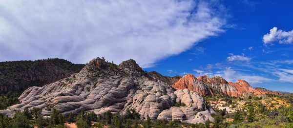
{"label": "orange-red rock ridge behind the pale grey layered hill", "polygon": [[203,96],[212,96],[214,94],[225,94],[239,97],[245,93],[258,94],[280,94],[265,88],[253,88],[244,80],[238,80],[236,83],[227,82],[222,77],[200,76],[197,79],[192,74],[187,74],[178,82],[172,85],[174,88],[195,91]]}

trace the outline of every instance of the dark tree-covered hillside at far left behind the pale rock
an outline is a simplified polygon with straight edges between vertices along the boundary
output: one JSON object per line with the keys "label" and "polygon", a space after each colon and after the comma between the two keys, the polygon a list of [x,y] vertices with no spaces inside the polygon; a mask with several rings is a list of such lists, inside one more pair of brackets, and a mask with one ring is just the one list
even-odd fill
{"label": "dark tree-covered hillside at far left behind the pale rock", "polygon": [[72,64],[63,59],[1,62],[0,93],[50,84],[79,72],[83,67],[84,64]]}

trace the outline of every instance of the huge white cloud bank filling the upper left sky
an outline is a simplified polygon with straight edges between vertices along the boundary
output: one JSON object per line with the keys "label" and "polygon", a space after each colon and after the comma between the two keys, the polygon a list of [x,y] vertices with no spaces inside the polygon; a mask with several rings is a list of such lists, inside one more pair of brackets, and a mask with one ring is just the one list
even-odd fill
{"label": "huge white cloud bank filling the upper left sky", "polygon": [[[214,0],[211,0],[214,1]],[[223,32],[202,0],[0,0],[0,61],[98,56],[149,67]]]}

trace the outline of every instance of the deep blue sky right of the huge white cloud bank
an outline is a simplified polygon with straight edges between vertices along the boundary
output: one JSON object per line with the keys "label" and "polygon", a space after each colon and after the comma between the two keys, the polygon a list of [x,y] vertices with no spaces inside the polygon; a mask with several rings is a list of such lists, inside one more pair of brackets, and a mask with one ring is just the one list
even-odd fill
{"label": "deep blue sky right of the huge white cloud bank", "polygon": [[[146,70],[167,76],[218,75],[232,82],[245,79],[255,87],[293,92],[292,42],[263,42],[263,36],[273,27],[292,31],[293,1],[224,0],[223,4],[230,14],[230,28]],[[242,59],[229,61],[232,54]]]}

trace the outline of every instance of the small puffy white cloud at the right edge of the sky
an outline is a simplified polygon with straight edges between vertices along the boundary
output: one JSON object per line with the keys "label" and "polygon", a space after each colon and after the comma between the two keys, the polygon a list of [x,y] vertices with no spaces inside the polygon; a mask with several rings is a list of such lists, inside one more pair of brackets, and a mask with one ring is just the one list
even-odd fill
{"label": "small puffy white cloud at the right edge of the sky", "polygon": [[265,44],[275,41],[278,41],[279,43],[293,43],[293,30],[286,32],[278,30],[277,27],[273,27],[270,30],[270,33],[263,36],[263,42]]}

